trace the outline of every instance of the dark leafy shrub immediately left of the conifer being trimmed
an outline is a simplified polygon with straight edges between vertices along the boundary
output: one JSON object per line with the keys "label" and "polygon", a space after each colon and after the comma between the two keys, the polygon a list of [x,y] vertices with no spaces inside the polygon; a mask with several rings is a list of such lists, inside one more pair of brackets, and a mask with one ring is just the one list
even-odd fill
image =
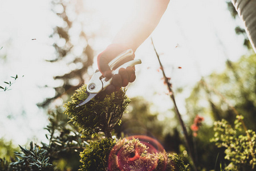
{"label": "dark leafy shrub immediately left of the conifer being trimmed", "polygon": [[62,110],[49,112],[50,123],[45,128],[48,144],[42,143],[42,148],[47,150],[47,156],[54,165],[52,170],[78,170],[79,153],[86,146],[86,139],[81,138],[79,128],[72,123],[68,123],[67,115],[60,113]]}

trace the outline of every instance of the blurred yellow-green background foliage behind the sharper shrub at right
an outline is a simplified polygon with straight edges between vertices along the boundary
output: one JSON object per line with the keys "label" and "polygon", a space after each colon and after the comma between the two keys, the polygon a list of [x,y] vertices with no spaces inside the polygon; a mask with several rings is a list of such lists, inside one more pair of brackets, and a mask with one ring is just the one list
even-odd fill
{"label": "blurred yellow-green background foliage behind the sharper shrub at right", "polygon": [[[256,56],[242,56],[237,62],[227,60],[226,64],[223,72],[214,72],[202,79],[186,99],[188,115],[200,115],[208,120],[207,125],[200,129],[194,144],[198,165],[206,170],[214,169],[214,165],[218,166],[220,162],[225,168],[224,147],[217,148],[209,142],[214,137],[214,121],[225,119],[233,125],[238,113],[245,117],[243,121],[248,129],[256,130]],[[213,160],[213,157],[217,159]]]}

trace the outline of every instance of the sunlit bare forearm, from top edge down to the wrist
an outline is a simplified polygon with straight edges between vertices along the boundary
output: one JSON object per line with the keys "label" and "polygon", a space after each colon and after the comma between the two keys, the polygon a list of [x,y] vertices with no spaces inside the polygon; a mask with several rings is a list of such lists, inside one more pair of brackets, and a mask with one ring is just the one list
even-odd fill
{"label": "sunlit bare forearm, from top edge down to the wrist", "polygon": [[112,42],[132,48],[133,52],[155,30],[169,0],[139,0],[138,3],[133,16],[125,23]]}

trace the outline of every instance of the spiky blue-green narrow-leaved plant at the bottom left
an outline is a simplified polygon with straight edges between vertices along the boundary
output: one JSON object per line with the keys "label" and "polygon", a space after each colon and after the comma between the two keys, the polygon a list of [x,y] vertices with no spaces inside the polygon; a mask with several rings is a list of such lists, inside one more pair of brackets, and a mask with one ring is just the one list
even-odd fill
{"label": "spiky blue-green narrow-leaved plant at the bottom left", "polygon": [[30,149],[20,146],[22,152],[15,152],[16,161],[12,162],[11,168],[14,170],[47,170],[52,166],[49,157],[46,157],[47,150],[30,143]]}

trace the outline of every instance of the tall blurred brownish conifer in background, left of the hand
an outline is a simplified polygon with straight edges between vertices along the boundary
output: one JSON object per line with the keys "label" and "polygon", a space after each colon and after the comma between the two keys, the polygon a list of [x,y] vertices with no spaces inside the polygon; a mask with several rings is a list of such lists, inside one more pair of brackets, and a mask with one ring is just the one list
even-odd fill
{"label": "tall blurred brownish conifer in background, left of the hand", "polygon": [[87,71],[90,70],[94,61],[94,50],[88,43],[84,31],[82,19],[88,14],[83,9],[83,3],[83,1],[74,1],[74,3],[62,0],[52,1],[52,11],[58,15],[59,24],[50,35],[54,41],[56,54],[48,62],[66,65],[70,67],[70,70],[62,75],[54,76],[60,85],[52,87],[55,89],[55,96],[38,104],[40,107],[46,107],[58,97],[63,99],[63,96],[71,96],[86,80],[90,79]]}

